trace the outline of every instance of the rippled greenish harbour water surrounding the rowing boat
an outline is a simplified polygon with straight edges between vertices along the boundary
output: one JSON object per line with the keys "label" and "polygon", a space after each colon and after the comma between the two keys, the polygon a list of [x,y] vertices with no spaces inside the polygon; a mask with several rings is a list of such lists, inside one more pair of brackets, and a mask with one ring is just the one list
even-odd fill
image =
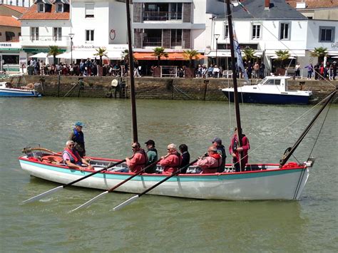
{"label": "rippled greenish harbour water surrounding the rowing boat", "polygon": [[[250,162],[278,162],[314,112],[310,106],[241,105],[250,138]],[[152,138],[161,154],[186,143],[192,159],[210,140],[227,146],[235,126],[226,102],[137,100],[138,139]],[[302,120],[297,118],[304,114]],[[312,155],[317,160],[299,201],[230,202],[110,193],[88,209],[68,213],[101,193],[68,187],[39,202],[20,202],[58,184],[30,177],[17,160],[26,145],[63,149],[71,127],[83,121],[87,154],[126,158],[132,140],[130,101],[91,98],[0,98],[1,252],[335,252],[338,107],[332,105]],[[322,116],[321,119],[324,117]],[[297,122],[292,124],[294,121]],[[321,124],[292,160],[304,161]]]}

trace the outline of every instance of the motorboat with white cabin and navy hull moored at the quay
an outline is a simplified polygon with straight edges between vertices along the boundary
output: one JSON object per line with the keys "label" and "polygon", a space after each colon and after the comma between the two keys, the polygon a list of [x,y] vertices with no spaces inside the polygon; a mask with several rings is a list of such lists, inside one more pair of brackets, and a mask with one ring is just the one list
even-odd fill
{"label": "motorboat with white cabin and navy hull moored at the quay", "polygon": [[[240,103],[265,103],[265,104],[300,104],[309,103],[312,91],[289,91],[287,76],[267,76],[260,83],[253,86],[238,88]],[[230,102],[234,102],[234,89],[224,88],[222,92]]]}

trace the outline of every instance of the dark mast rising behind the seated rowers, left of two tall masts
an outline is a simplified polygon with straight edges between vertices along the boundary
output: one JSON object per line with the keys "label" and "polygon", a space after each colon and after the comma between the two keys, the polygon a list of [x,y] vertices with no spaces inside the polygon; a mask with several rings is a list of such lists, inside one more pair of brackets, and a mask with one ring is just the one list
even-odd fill
{"label": "dark mast rising behind the seated rowers, left of two tall masts", "polygon": [[131,100],[131,118],[133,123],[133,142],[138,141],[138,123],[136,117],[136,100],[135,100],[135,81],[134,81],[134,59],[133,59],[133,43],[131,42],[131,21],[129,0],[126,0],[127,8],[127,28],[128,28],[128,61],[130,73],[130,100]]}

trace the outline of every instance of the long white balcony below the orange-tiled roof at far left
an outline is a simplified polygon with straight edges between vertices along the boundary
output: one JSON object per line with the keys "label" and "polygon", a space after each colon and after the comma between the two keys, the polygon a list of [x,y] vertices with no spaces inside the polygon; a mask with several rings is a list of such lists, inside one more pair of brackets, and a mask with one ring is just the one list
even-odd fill
{"label": "long white balcony below the orange-tiled roof at far left", "polygon": [[69,36],[20,36],[21,46],[71,46]]}

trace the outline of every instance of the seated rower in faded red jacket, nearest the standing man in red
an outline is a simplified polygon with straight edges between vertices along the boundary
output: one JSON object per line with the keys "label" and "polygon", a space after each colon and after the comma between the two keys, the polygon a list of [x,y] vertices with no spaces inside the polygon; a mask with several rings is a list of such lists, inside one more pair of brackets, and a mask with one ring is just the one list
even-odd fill
{"label": "seated rower in faded red jacket, nearest the standing man in red", "polygon": [[208,156],[198,158],[196,165],[202,169],[201,174],[216,173],[222,164],[222,156],[217,152],[217,148],[212,145],[208,148]]}

